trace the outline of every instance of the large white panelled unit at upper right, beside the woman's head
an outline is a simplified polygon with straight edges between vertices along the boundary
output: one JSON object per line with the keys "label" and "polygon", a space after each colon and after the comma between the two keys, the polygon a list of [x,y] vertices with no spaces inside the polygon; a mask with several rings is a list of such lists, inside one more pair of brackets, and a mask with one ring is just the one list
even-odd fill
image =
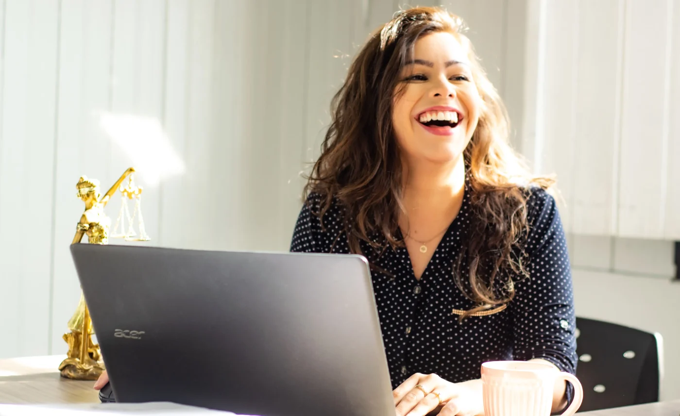
{"label": "large white panelled unit at upper right, beside the woman's head", "polygon": [[556,173],[570,232],[680,239],[680,4],[537,1],[525,140]]}

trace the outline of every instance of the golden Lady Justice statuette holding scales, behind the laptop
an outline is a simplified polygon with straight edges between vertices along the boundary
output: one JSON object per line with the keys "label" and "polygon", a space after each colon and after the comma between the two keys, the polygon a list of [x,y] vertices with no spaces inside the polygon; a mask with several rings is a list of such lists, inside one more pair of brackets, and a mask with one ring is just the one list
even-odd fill
{"label": "golden Lady Justice statuette holding scales, behind the laptop", "polygon": [[[148,241],[150,237],[144,229],[144,220],[141,215],[141,191],[142,188],[135,186],[133,176],[134,168],[129,168],[118,178],[118,181],[106,192],[101,194],[99,181],[86,176],[80,177],[75,188],[78,190],[78,198],[85,203],[85,211],[76,225],[75,237],[71,244],[78,244],[87,235],[90,244],[108,244],[109,237],[122,238],[126,241]],[[120,211],[113,230],[109,230],[110,218],[104,212],[109,200],[116,190],[120,192]],[[135,201],[135,207],[131,214],[128,201]],[[139,232],[135,232],[135,219],[138,223]],[[127,222],[128,228],[125,229]],[[120,231],[118,230],[120,227]],[[101,358],[99,344],[92,341],[95,334],[90,319],[85,298],[81,292],[80,303],[68,322],[70,332],[63,335],[64,341],[69,346],[67,358],[59,365],[61,377],[76,380],[96,380],[105,370]]]}

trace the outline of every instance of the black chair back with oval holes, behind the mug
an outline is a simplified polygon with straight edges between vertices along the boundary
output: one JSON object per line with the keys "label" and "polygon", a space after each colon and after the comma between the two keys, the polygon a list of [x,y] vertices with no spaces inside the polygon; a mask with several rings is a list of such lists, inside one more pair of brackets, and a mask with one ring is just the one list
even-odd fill
{"label": "black chair back with oval holes, behind the mug", "polygon": [[659,400],[660,334],[583,317],[576,318],[576,327],[576,376],[583,385],[579,411]]}

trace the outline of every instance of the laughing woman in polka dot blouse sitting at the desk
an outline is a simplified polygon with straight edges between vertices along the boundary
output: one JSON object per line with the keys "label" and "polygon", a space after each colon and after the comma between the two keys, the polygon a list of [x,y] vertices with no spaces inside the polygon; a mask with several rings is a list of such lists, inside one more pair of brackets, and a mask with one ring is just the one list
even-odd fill
{"label": "laughing woman in polka dot blouse sitting at the desk", "polygon": [[[482,415],[483,362],[577,362],[553,181],[510,148],[463,32],[421,7],[370,37],[333,99],[290,247],[369,260],[398,416]],[[556,383],[553,409],[571,394]]]}

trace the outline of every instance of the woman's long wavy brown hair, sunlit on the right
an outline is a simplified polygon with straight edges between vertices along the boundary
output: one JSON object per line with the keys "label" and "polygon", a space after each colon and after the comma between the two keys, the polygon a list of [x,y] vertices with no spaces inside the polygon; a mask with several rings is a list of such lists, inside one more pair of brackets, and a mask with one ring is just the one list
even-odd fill
{"label": "woman's long wavy brown hair, sunlit on the right", "polygon": [[511,300],[511,275],[527,275],[522,264],[529,226],[527,190],[553,184],[549,178],[530,175],[511,149],[505,106],[464,30],[458,16],[437,7],[418,7],[397,12],[375,31],[333,97],[332,122],[305,186],[305,196],[310,192],[322,196],[320,211],[315,213],[319,218],[333,203],[343,207],[344,230],[353,253],[364,254],[362,242],[375,253],[403,244],[398,237],[403,170],[392,103],[395,91],[400,94],[399,75],[415,41],[429,33],[452,33],[469,50],[473,79],[483,101],[479,123],[464,150],[474,215],[454,264],[456,283],[477,306],[461,319]]}

